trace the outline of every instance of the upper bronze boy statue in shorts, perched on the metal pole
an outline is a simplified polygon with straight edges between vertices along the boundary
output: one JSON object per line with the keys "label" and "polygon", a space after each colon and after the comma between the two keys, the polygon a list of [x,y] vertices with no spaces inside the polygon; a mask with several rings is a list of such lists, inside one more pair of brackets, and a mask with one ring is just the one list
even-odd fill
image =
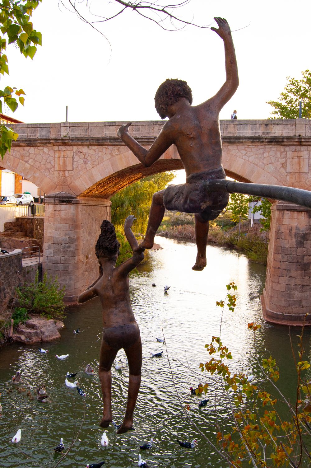
{"label": "upper bronze boy statue in shorts, perched on the metal pole", "polygon": [[186,171],[186,183],[169,185],[152,198],[144,241],[137,252],[151,249],[154,236],[163,219],[165,209],[195,213],[195,240],[197,256],[193,270],[206,266],[206,244],[209,220],[216,219],[228,204],[229,193],[223,188],[208,193],[205,183],[225,179],[222,166],[222,144],[219,112],[239,86],[238,67],[231,30],[224,18],[214,18],[218,29],[211,28],[224,41],[226,81],[217,94],[207,101],[192,106],[192,93],[186,81],[166,80],[155,95],[159,116],[169,120],[149,150],[133,139],[129,132],[131,122],[122,125],[117,135],[145,166],[151,166],[171,145],[176,145]]}

